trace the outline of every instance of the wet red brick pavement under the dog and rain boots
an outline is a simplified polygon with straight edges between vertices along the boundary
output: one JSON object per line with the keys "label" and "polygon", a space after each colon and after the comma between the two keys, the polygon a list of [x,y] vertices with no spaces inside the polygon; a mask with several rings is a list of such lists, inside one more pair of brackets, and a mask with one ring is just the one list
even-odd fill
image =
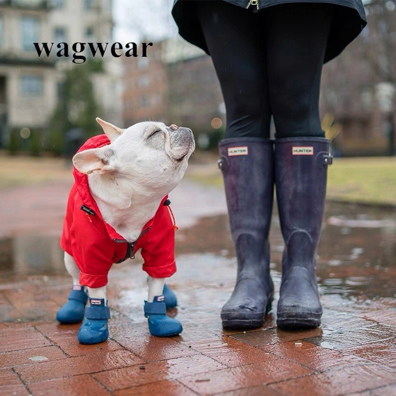
{"label": "wet red brick pavement under the dog and rain boots", "polygon": [[[396,395],[395,209],[328,203],[318,250],[321,328],[277,329],[275,300],[262,328],[227,331],[219,312],[234,285],[235,258],[224,197],[184,182],[171,196],[180,230],[178,272],[168,282],[179,299],[169,314],[183,333],[149,335],[137,257],[110,271],[109,340],[83,346],[79,325],[54,319],[70,287],[56,234],[67,187],[47,186],[41,195],[23,188],[25,215],[17,211],[21,190],[0,193],[10,206],[0,209],[1,223],[14,211],[0,240],[0,395]],[[41,216],[48,207],[56,215]],[[277,292],[281,251],[275,216]]]}

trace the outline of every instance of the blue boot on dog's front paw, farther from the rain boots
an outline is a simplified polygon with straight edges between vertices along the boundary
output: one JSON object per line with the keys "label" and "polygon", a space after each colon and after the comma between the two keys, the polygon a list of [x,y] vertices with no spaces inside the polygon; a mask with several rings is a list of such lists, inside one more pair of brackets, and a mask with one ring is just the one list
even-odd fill
{"label": "blue boot on dog's front paw, farther from the rain boots", "polygon": [[84,322],[78,331],[78,341],[81,344],[99,344],[106,341],[109,318],[110,310],[107,304],[104,305],[104,298],[90,298],[90,305],[85,307]]}

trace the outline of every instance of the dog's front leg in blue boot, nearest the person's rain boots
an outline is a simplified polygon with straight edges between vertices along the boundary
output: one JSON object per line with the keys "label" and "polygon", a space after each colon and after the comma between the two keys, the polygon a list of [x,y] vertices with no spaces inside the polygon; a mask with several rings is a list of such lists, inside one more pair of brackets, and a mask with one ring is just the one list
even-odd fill
{"label": "dog's front leg in blue boot, nearest the person's rain boots", "polygon": [[148,277],[148,300],[145,301],[145,316],[148,318],[148,329],[152,336],[168,337],[180,334],[182,324],[166,315],[166,304],[163,296],[165,279]]}

